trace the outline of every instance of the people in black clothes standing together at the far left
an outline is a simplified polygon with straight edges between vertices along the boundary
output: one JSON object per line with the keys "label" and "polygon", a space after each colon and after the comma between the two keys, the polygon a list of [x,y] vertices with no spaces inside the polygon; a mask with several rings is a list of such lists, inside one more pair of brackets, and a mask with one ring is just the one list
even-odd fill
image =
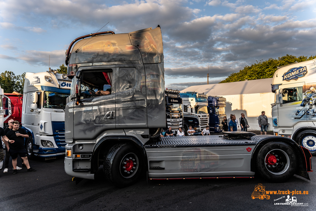
{"label": "people in black clothes standing together at the far left", "polygon": [[5,161],[4,161],[4,173],[8,172],[9,159],[12,158],[13,174],[17,173],[17,170],[22,168],[17,166],[17,158],[20,156],[22,159],[22,166],[25,165],[27,171],[36,171],[30,167],[26,149],[24,145],[24,138],[28,138],[29,135],[25,129],[20,128],[18,121],[9,120],[8,127],[3,129],[0,127],[0,136],[5,144]]}

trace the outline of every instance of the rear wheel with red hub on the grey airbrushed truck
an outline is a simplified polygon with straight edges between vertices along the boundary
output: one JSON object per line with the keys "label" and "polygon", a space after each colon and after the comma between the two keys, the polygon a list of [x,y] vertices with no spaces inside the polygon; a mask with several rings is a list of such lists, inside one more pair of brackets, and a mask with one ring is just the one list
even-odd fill
{"label": "rear wheel with red hub on the grey airbrushed truck", "polygon": [[269,142],[259,150],[257,170],[264,179],[283,182],[293,176],[296,167],[295,152],[284,142]]}

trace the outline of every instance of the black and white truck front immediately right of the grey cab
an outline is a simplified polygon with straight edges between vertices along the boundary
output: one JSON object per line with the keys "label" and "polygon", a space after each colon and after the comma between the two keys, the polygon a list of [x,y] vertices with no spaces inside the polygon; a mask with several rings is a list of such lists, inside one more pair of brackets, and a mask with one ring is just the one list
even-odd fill
{"label": "black and white truck front immediately right of the grey cab", "polygon": [[166,102],[166,128],[171,127],[174,134],[177,133],[179,127],[183,127],[182,99],[180,91],[174,89],[165,89]]}

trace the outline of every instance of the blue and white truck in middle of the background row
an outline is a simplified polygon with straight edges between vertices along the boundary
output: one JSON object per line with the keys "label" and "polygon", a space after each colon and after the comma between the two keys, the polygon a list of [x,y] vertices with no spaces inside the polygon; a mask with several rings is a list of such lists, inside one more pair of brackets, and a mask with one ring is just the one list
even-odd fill
{"label": "blue and white truck in middle of the background row", "polygon": [[182,110],[184,117],[184,130],[188,131],[189,126],[197,132],[202,132],[209,124],[209,114],[207,110],[207,94],[199,94],[193,91],[180,93],[182,98]]}

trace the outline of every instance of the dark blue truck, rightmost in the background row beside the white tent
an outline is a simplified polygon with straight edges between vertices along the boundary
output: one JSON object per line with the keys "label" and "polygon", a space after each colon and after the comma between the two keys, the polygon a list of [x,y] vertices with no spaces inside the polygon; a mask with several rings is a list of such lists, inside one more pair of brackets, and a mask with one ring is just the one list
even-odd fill
{"label": "dark blue truck, rightmost in the background row beside the white tent", "polygon": [[222,121],[225,114],[226,98],[218,96],[208,96],[209,131],[222,132]]}

